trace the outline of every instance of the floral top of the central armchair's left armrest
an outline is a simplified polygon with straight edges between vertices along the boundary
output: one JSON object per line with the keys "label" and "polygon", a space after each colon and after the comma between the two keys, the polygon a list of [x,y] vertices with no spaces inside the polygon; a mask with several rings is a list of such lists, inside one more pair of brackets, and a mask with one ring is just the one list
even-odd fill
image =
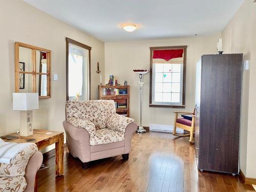
{"label": "floral top of the central armchair's left armrest", "polygon": [[69,117],[67,118],[67,121],[76,127],[86,129],[90,137],[95,136],[96,128],[95,128],[95,125],[90,120]]}

